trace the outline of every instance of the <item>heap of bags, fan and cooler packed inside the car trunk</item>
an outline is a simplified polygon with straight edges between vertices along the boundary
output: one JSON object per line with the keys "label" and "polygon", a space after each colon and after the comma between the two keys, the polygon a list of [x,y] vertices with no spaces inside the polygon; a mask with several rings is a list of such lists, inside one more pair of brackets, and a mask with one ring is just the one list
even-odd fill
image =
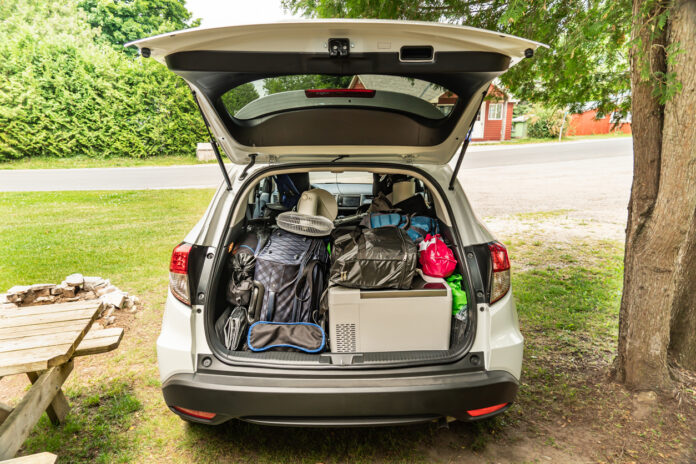
{"label": "heap of bags, fan and cooler packed inside the car trunk", "polygon": [[410,177],[375,174],[373,189],[367,208],[337,220],[334,196],[306,173],[264,180],[230,244],[215,324],[228,350],[449,348],[466,292],[439,220]]}

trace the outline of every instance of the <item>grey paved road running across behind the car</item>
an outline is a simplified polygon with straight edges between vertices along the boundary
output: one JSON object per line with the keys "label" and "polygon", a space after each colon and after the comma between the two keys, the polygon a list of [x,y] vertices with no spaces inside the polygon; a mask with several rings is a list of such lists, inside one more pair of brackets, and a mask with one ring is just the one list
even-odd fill
{"label": "grey paved road running across behind the car", "polygon": [[[516,172],[520,165],[627,158],[630,155],[630,138],[472,146],[466,154],[463,170],[499,167]],[[221,178],[217,165],[0,170],[0,191],[212,188]]]}

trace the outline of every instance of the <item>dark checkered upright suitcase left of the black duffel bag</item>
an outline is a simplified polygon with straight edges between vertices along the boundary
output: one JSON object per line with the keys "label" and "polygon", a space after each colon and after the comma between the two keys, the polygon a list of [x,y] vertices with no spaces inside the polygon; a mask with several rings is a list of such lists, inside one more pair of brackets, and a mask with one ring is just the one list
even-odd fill
{"label": "dark checkered upright suitcase left of the black duffel bag", "polygon": [[260,320],[312,322],[328,266],[323,239],[274,231],[256,257],[254,280],[265,289]]}

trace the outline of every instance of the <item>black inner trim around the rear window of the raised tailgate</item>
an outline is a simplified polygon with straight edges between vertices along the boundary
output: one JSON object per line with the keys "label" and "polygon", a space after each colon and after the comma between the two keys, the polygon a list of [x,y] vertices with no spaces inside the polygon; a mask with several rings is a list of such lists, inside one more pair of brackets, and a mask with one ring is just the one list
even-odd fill
{"label": "black inner trim around the rear window of the raised tailgate", "polygon": [[[431,61],[401,61],[399,52],[351,53],[332,58],[328,53],[197,50],[172,53],[165,60],[172,71],[206,96],[230,135],[250,147],[437,145],[451,135],[474,93],[510,65],[509,56],[480,51],[435,52]],[[440,85],[459,98],[452,112],[438,120],[386,109],[326,107],[239,120],[230,116],[222,103],[222,95],[239,85],[296,74],[413,77]],[[346,121],[351,125],[350,131],[345,129]],[[358,139],[356,132],[361,134]]]}

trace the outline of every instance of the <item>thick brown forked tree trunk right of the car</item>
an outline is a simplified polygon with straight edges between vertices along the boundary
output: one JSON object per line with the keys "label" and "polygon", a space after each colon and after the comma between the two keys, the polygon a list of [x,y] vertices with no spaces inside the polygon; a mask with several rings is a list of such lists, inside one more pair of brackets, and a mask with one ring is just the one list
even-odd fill
{"label": "thick brown forked tree trunk right of the car", "polygon": [[[644,3],[634,0],[633,5],[633,35],[642,45],[634,46],[631,57],[634,175],[616,367],[618,380],[628,387],[662,390],[671,384],[668,348],[671,353],[693,351],[693,329],[684,332],[681,321],[696,323],[695,3],[677,0],[665,33],[652,39],[651,27],[638,14]],[[668,66],[664,50],[675,42],[686,53]],[[653,97],[653,83],[641,79],[645,59],[653,73],[675,71],[683,83],[682,93],[666,105]],[[677,346],[677,340],[684,343]]]}

